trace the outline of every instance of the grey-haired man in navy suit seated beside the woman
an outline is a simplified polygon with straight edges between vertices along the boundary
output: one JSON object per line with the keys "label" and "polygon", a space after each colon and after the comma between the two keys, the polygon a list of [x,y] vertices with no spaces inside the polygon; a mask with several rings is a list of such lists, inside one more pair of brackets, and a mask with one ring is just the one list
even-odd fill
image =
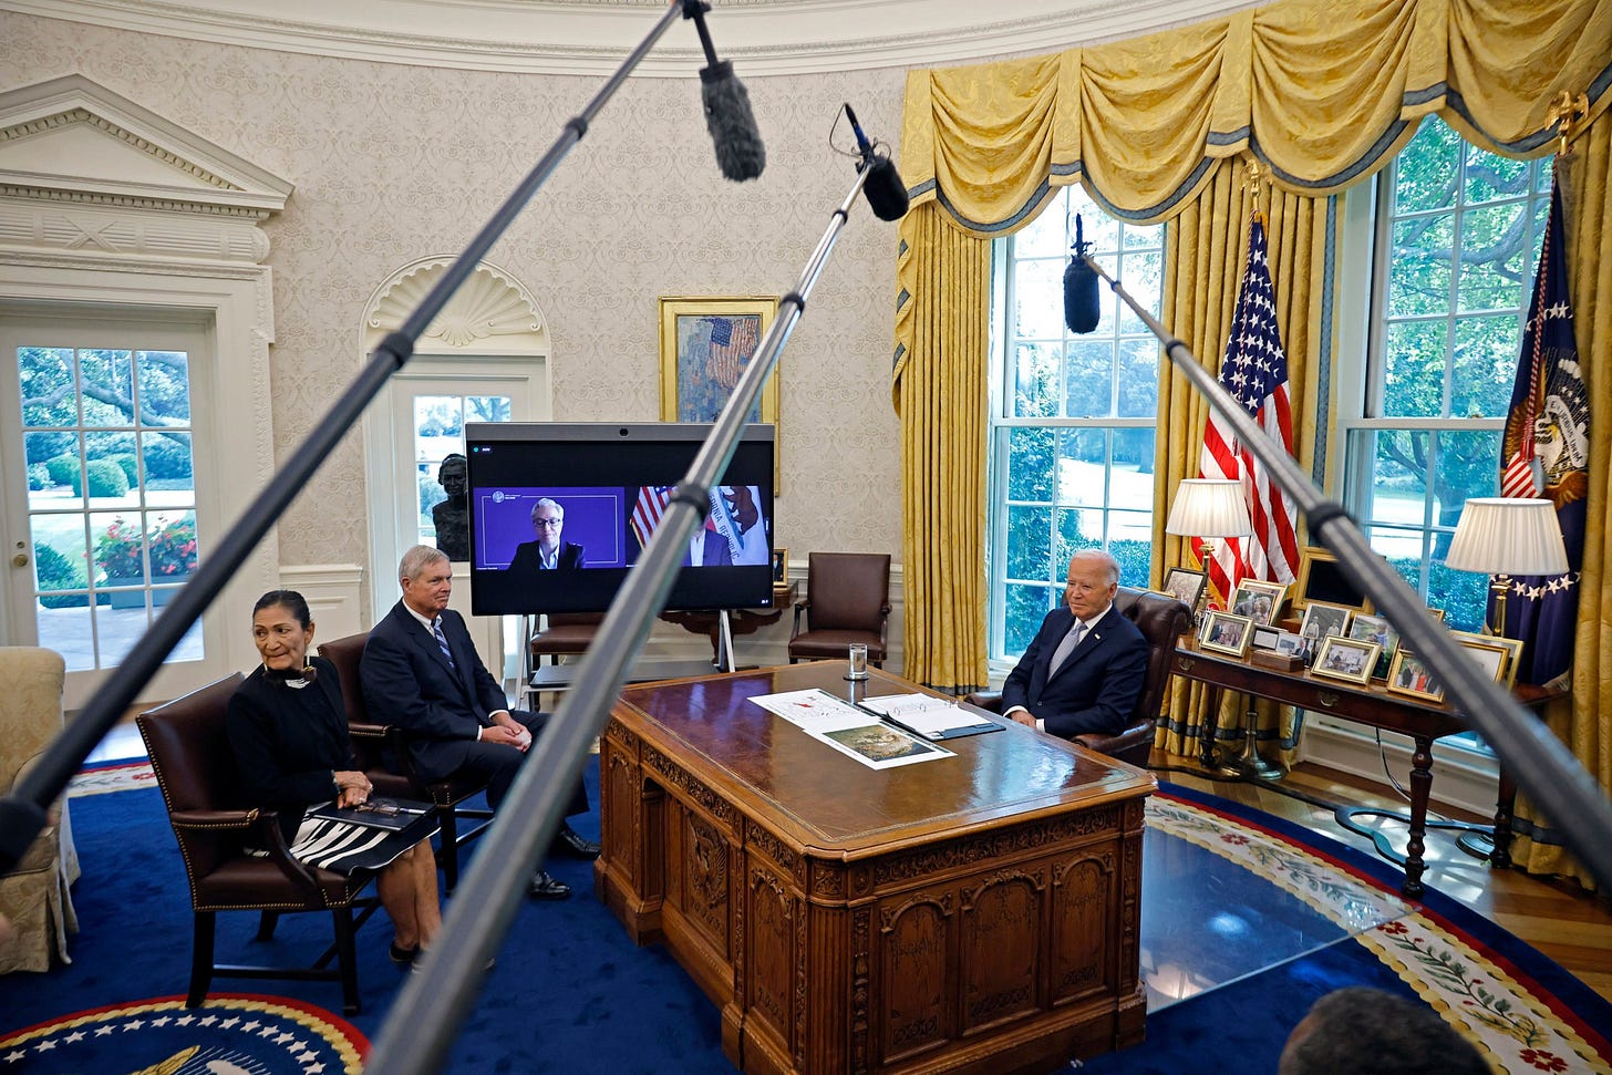
{"label": "grey-haired man in navy suit seated beside the woman", "polygon": [[[448,609],[453,567],[440,550],[416,545],[398,564],[403,600],[369,632],[359,677],[371,712],[408,732],[416,772],[426,780],[466,775],[487,780],[487,801],[503,803],[546,712],[511,711],[464,627]],[[588,811],[577,782],[567,816]],[[598,857],[600,846],[563,825],[553,851]],[[571,886],[546,870],[532,878],[537,899],[564,899]]]}

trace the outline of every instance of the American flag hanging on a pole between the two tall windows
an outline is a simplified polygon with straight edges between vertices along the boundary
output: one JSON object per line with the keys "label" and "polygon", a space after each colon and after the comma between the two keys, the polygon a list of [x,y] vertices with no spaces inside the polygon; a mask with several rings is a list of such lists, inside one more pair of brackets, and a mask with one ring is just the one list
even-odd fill
{"label": "American flag hanging on a pole between the two tall windows", "polygon": [[[1265,258],[1265,224],[1254,214],[1248,237],[1248,266],[1236,295],[1232,338],[1220,359],[1220,385],[1243,409],[1293,454],[1293,416],[1288,411],[1288,356],[1277,330],[1275,288]],[[1224,538],[1214,559],[1204,564],[1211,585],[1222,598],[1243,579],[1293,582],[1299,559],[1298,511],[1272,480],[1270,472],[1224,424],[1217,414],[1204,427],[1199,461],[1203,477],[1228,477],[1243,484],[1254,533]]]}

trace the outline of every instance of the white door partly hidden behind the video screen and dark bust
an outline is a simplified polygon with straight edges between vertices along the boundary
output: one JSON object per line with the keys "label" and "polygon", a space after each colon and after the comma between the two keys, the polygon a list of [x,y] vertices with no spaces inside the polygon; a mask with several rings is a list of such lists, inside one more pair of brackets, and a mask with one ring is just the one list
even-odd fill
{"label": "white door partly hidden behind the video screen and dark bust", "polygon": [[[432,506],[447,498],[437,480],[442,461],[464,454],[466,422],[548,421],[548,366],[542,356],[416,358],[393,374],[374,408],[369,446],[374,504],[374,609],[398,600],[397,562],[413,545],[437,546]],[[469,621],[469,564],[455,564],[451,606]],[[508,675],[519,632],[498,621],[471,621],[477,650],[493,675]],[[508,641],[506,641],[508,640]]]}

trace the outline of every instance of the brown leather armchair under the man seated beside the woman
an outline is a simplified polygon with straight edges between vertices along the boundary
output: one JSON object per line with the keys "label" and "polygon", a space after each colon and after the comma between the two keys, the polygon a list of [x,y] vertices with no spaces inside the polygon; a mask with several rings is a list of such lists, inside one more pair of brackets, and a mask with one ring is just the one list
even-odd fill
{"label": "brown leather armchair under the man seated beside the woman", "polygon": [[[442,867],[442,883],[448,893],[459,883],[459,846],[482,833],[492,819],[492,811],[464,809],[464,799],[487,790],[479,780],[421,780],[414,772],[406,749],[408,733],[395,724],[377,724],[364,703],[364,685],[359,680],[359,662],[369,635],[348,635],[319,645],[319,656],[335,666],[342,679],[342,703],[347,708],[347,735],[359,769],[376,785],[376,793],[395,799],[424,799],[437,806],[437,824],[442,846],[437,849],[437,865]],[[480,820],[459,832],[461,820]]]}

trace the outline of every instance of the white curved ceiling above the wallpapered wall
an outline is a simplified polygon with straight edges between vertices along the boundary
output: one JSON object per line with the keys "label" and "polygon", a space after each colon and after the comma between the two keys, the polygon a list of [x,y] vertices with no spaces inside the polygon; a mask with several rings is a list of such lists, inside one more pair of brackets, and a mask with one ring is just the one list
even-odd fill
{"label": "white curved ceiling above the wallpapered wall", "polygon": [[[722,58],[766,76],[1057,52],[1264,2],[711,0],[706,23]],[[326,56],[606,74],[656,27],[666,0],[0,0],[3,11]],[[693,27],[674,24],[637,74],[687,77],[700,55]]]}

